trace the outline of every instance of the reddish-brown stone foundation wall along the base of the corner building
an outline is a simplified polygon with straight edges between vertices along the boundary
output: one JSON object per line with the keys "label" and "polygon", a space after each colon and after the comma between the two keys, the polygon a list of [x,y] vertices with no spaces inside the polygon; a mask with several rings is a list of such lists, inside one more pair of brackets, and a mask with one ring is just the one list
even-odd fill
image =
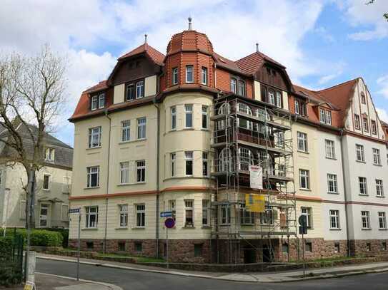
{"label": "reddish-brown stone foundation wall along the base of the corner building", "polygon": [[[383,242],[387,246],[388,239],[352,240],[349,241],[350,253],[352,256],[388,254],[387,248],[383,250]],[[305,243],[307,246],[305,246],[304,258],[307,261],[347,256],[347,240],[326,241],[323,238],[314,238],[305,239]],[[77,240],[70,239],[69,246],[76,248]],[[102,239],[81,239],[82,251],[102,252],[103,247]],[[310,248],[311,251],[309,251]],[[106,241],[106,252],[156,257],[156,240],[108,239]],[[270,243],[268,239],[248,239],[241,240],[239,243],[229,243],[224,239],[219,239],[218,242],[215,239],[169,240],[169,261],[175,263],[257,263],[265,261],[269,252],[272,253],[270,255],[273,255],[274,261],[298,261],[298,257],[302,260],[302,239],[289,239],[289,241],[287,239],[271,239]],[[159,257],[165,256],[166,240],[160,239]]]}

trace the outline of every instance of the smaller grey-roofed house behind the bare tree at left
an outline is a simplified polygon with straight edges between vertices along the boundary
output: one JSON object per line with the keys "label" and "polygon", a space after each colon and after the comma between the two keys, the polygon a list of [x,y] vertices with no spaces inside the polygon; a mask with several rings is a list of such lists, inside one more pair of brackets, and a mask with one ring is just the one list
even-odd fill
{"label": "smaller grey-roofed house behind the bare tree at left", "polygon": [[[29,131],[36,132],[33,125]],[[0,138],[9,138],[5,128]],[[24,125],[17,128],[24,136],[24,146],[33,149],[29,131]],[[69,228],[69,195],[73,148],[50,134],[44,135],[44,166],[36,172],[35,227]],[[30,154],[28,152],[28,154]],[[0,158],[0,222],[1,227],[26,226],[26,170],[19,162],[8,162],[14,150],[1,143]]]}

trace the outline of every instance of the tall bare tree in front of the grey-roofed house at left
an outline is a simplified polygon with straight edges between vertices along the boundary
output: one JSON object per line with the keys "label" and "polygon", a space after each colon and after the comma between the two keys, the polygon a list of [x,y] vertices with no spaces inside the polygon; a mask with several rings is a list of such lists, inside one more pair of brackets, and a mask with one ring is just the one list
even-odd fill
{"label": "tall bare tree in front of the grey-roofed house at left", "polygon": [[27,228],[35,226],[35,173],[44,166],[45,136],[64,104],[65,70],[65,59],[48,45],[36,56],[0,56],[0,145],[10,151],[1,162],[24,167]]}

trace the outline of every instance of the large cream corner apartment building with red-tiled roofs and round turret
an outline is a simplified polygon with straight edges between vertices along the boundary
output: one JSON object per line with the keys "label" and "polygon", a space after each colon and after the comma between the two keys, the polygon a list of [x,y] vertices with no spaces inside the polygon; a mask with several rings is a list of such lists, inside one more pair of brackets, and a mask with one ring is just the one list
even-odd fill
{"label": "large cream corner apartment building with red-tiled roofs and round turret", "polygon": [[[374,209],[387,204],[359,200],[364,195],[351,185],[366,177],[371,192],[372,176],[387,185],[387,132],[365,87],[364,110],[354,107],[362,79],[348,83],[319,92],[294,86],[286,68],[264,53],[231,61],[191,27],[171,37],[166,55],[145,41],[81,94],[70,118],[70,200],[81,208],[81,247],[162,257],[159,216],[171,210],[172,261],[297,259],[300,214],[309,221],[308,258],[345,255],[350,244],[358,254],[372,237],[361,229],[364,212],[373,222]],[[367,115],[369,135],[353,130],[350,110]],[[367,170],[354,172],[354,139],[380,150],[381,164],[372,163],[377,151],[364,152],[372,159],[359,166]],[[263,189],[250,187],[250,165],[263,168]],[[265,195],[265,211],[249,212],[247,195]],[[70,222],[73,245],[77,222]],[[370,252],[378,252],[386,237],[373,230]]]}

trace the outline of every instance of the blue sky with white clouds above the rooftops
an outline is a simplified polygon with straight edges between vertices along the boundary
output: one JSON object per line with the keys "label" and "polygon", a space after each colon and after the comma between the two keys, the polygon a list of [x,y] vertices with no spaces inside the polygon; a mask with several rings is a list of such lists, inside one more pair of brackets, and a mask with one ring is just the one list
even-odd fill
{"label": "blue sky with white clouds above the rooftops", "polygon": [[[35,53],[43,43],[68,58],[67,105],[56,135],[72,145],[66,121],[82,90],[104,80],[116,58],[149,44],[166,51],[172,34],[193,28],[207,33],[214,50],[232,60],[255,43],[287,66],[292,81],[319,89],[362,76],[380,118],[388,121],[387,0],[3,0],[0,51]],[[19,16],[18,16],[19,15]],[[24,17],[30,15],[30,17]]]}

